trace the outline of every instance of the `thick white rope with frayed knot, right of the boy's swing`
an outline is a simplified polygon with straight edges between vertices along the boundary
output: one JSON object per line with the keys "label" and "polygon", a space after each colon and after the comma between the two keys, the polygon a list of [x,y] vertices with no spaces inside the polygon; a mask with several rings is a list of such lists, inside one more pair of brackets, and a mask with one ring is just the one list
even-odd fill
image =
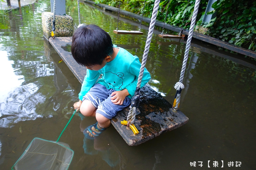
{"label": "thick white rope with frayed knot, right of the boy's swing", "polygon": [[[188,52],[189,52],[190,43],[191,43],[191,40],[192,40],[194,26],[196,24],[197,12],[198,12],[198,9],[199,9],[199,3],[200,3],[200,0],[196,0],[194,11],[193,11],[193,15],[192,15],[192,20],[191,20],[191,24],[190,24],[190,28],[189,28],[189,33],[188,33],[187,44],[186,44],[184,59],[183,59],[182,68],[181,68],[180,80],[179,80],[179,82],[177,82],[174,85],[174,88],[177,91],[180,90],[180,89],[184,89],[184,85],[182,84],[182,82],[183,82],[183,78],[184,78],[184,74],[185,74],[185,69],[186,69],[186,65],[187,65]],[[176,102],[174,102],[175,106],[173,106],[175,110],[179,109],[180,98],[181,98],[181,94],[178,93],[177,96],[176,96]]]}

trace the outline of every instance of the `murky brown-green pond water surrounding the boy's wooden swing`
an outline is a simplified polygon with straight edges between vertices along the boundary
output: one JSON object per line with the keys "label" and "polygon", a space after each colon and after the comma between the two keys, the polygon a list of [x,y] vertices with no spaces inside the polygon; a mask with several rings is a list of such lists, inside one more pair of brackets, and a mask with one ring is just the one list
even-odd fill
{"label": "murky brown-green pond water surrounding the boy's wooden swing", "polygon": [[[76,1],[66,12],[78,25]],[[114,44],[141,59],[147,35],[117,35],[117,14],[80,4],[81,20],[109,32]],[[12,10],[0,19],[0,169],[11,169],[33,138],[57,140],[73,113],[81,84],[44,39],[41,13],[50,2]],[[137,30],[139,22],[121,18],[119,29]],[[165,40],[156,28],[147,69],[149,85],[173,103],[185,40]],[[67,48],[68,50],[68,48]],[[256,64],[213,45],[192,41],[180,110],[186,125],[139,146],[128,146],[112,126],[94,141],[83,130],[96,122],[76,114],[60,138],[75,151],[70,169],[256,169]],[[192,167],[190,162],[196,162]],[[200,167],[199,164],[203,164]],[[228,167],[228,162],[234,162]],[[235,167],[236,161],[241,167]],[[216,163],[216,162],[215,162]],[[213,168],[215,169],[215,168]]]}

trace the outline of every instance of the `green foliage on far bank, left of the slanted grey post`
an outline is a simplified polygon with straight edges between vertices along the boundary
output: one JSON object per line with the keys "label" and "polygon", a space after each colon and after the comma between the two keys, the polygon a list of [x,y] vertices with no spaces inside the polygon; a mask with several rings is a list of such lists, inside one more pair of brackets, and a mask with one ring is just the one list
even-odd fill
{"label": "green foliage on far bank, left of the slanted grey post", "polygon": [[[94,0],[96,3],[107,4],[118,8],[119,0]],[[146,0],[146,6],[144,12],[142,11],[144,6],[144,0],[121,0],[120,8],[136,14],[151,18],[155,0]],[[207,0],[200,2],[199,12],[197,20],[200,19],[207,6]],[[166,15],[166,9],[168,0],[160,2],[159,12],[157,20],[164,22]],[[194,11],[195,0],[170,0],[170,5],[167,12],[166,23],[176,25],[183,28],[189,28],[192,14]],[[184,18],[184,22],[183,22]]]}

